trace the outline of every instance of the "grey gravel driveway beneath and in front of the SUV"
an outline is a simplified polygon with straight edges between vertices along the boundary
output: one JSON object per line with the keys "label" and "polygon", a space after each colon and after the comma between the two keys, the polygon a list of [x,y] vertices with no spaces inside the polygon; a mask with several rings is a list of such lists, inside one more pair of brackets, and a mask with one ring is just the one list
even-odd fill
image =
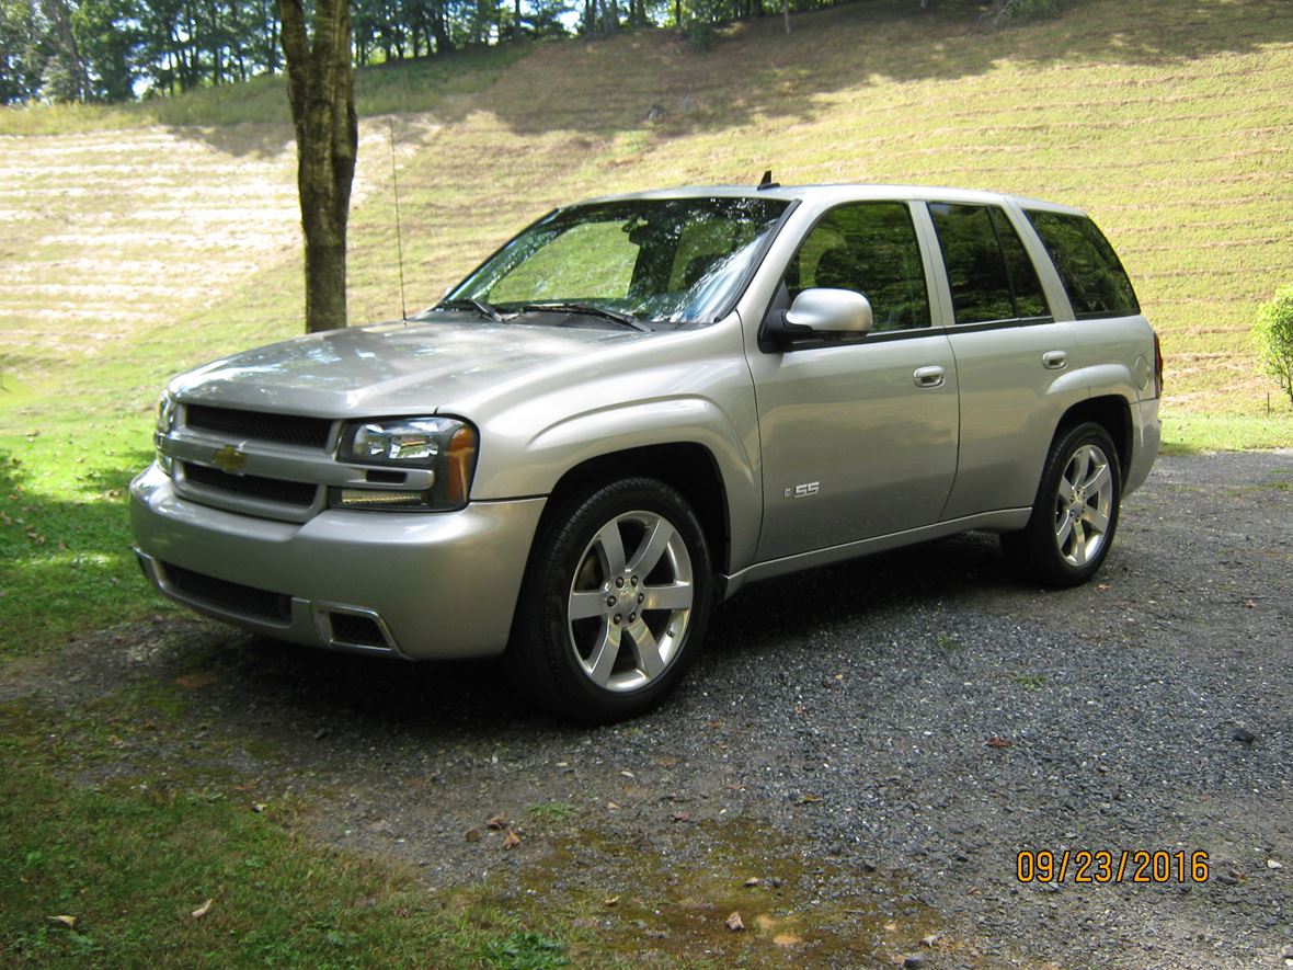
{"label": "grey gravel driveway beneath and in front of the SUV", "polygon": [[[177,618],[0,693],[76,702],[197,662],[191,757],[242,738],[235,767],[305,793],[321,838],[551,894],[644,965],[721,954],[740,911],[754,965],[1283,967],[1290,620],[1293,453],[1221,454],[1161,459],[1085,588],[1020,585],[987,535],[751,587],[681,691],[618,727],[530,714],[489,663]],[[1069,851],[1064,881],[1020,882],[1042,850]],[[1161,850],[1170,878],[1133,883],[1133,855],[1082,885],[1080,850]]]}

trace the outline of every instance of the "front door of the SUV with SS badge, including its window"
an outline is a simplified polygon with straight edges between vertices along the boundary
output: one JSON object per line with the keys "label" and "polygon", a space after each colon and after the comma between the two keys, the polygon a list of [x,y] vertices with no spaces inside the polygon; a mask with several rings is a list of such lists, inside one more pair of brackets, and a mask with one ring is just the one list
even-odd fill
{"label": "front door of the SUV with SS badge, including its window", "polygon": [[768,348],[750,360],[763,453],[760,561],[934,523],[957,464],[957,371],[931,327],[932,264],[905,202],[853,202],[808,232],[782,300],[861,292],[865,336]]}

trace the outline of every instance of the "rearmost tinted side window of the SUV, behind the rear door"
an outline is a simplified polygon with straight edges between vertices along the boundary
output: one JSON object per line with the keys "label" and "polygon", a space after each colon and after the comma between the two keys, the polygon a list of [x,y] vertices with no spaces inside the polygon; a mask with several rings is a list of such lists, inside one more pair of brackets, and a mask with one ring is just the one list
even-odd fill
{"label": "rearmost tinted side window of the SUV, behind the rear door", "polygon": [[1029,211],[1078,319],[1140,312],[1135,290],[1109,241],[1086,216]]}

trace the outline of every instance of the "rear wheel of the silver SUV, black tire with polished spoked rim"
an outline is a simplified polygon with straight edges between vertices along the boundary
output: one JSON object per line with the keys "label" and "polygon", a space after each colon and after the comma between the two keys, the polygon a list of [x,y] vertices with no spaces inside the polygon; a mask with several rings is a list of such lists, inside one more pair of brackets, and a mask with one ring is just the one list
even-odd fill
{"label": "rear wheel of the silver SUV, black tire with polished spoked rim", "polygon": [[1078,586],[1109,555],[1118,525],[1122,471],[1113,438],[1087,422],[1062,428],[1046,455],[1028,525],[1001,537],[1020,574],[1046,586]]}

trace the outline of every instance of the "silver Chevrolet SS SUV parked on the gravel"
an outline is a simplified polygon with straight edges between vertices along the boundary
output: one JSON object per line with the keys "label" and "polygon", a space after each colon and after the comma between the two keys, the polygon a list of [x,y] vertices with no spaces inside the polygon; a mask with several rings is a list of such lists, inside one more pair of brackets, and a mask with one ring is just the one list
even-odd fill
{"label": "silver Chevrolet SS SUV parked on the gravel", "polygon": [[637,714],[712,604],[966,529],[1089,579],[1159,450],[1157,339],[1078,210],[701,188],[539,219],[411,319],[172,380],[131,486],[156,587],[266,636],[503,654]]}

